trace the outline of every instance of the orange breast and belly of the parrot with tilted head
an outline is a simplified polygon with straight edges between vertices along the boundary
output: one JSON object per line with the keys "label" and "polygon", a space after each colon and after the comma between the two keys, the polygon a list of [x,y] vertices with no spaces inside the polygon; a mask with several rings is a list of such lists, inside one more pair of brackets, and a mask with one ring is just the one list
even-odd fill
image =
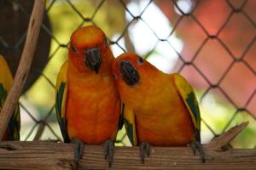
{"label": "orange breast and belly of the parrot with tilted head", "polygon": [[[148,86],[150,89],[140,89],[142,99],[138,99],[140,105],[134,109],[137,138],[140,142],[148,141],[149,144],[161,146],[189,144],[195,137],[189,111],[177,94],[173,79],[169,76],[163,79],[147,82],[154,83]],[[157,83],[161,81],[166,81],[164,84],[168,85],[160,87]]]}

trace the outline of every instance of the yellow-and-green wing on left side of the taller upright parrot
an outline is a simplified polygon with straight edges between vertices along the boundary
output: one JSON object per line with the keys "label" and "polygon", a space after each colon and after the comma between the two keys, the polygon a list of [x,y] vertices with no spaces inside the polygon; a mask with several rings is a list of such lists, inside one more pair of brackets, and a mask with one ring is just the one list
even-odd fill
{"label": "yellow-and-green wing on left side of the taller upright parrot", "polygon": [[66,101],[67,101],[67,61],[61,66],[61,71],[58,74],[55,86],[56,101],[55,109],[57,120],[61,127],[62,137],[64,142],[70,142],[67,134],[67,120],[66,120]]}

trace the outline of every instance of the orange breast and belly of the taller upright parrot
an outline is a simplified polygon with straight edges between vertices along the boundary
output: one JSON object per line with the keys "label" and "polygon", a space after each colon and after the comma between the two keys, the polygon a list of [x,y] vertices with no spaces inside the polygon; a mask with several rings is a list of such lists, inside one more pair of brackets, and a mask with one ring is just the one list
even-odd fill
{"label": "orange breast and belly of the taller upright parrot", "polygon": [[70,139],[102,144],[115,139],[120,101],[111,75],[76,75],[68,71],[67,132]]}

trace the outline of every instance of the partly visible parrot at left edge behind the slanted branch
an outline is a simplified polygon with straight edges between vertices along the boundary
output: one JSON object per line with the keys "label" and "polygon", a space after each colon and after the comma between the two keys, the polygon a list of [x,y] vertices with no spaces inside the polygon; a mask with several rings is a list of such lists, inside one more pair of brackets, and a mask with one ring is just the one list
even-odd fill
{"label": "partly visible parrot at left edge behind the slanted branch", "polygon": [[[7,98],[9,89],[13,84],[13,77],[9,70],[9,66],[3,55],[0,54],[0,115],[3,103]],[[20,107],[15,105],[15,111],[10,118],[8,127],[3,134],[3,140],[20,140]]]}

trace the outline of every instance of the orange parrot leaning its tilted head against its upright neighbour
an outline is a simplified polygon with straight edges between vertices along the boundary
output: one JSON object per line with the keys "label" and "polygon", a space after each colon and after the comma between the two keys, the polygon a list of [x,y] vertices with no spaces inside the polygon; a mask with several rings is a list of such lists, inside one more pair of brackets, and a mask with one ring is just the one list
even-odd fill
{"label": "orange parrot leaning its tilted head against its upright neighbour", "polygon": [[113,77],[124,103],[125,130],[132,145],[139,145],[141,161],[150,145],[191,145],[201,161],[201,116],[193,88],[178,73],[159,71],[137,54],[125,53],[113,61]]}

